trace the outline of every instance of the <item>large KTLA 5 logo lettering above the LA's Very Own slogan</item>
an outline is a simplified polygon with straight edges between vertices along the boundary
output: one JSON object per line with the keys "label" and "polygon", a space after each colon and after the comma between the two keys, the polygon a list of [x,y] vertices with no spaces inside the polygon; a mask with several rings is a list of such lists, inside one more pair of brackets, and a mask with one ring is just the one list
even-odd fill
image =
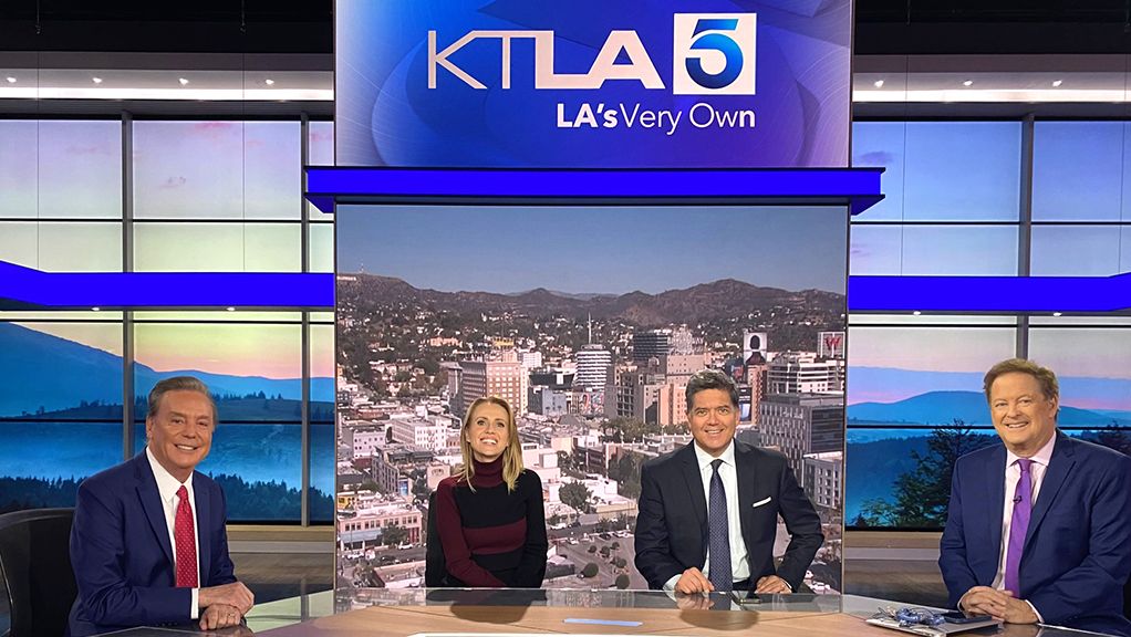
{"label": "large KTLA 5 logo lettering above the LA's Very Own slogan", "polygon": [[[756,14],[676,14],[674,16],[672,91],[676,95],[753,95]],[[485,89],[478,78],[452,56],[475,40],[498,40],[500,88],[511,84],[511,43],[534,41],[534,88],[597,89],[607,80],[636,80],[647,89],[665,88],[648,50],[634,30],[613,30],[586,73],[554,72],[554,32],[476,29],[443,50],[437,33],[428,32],[428,87],[437,88],[444,69],[472,88]],[[624,59],[627,62],[618,62]]]}

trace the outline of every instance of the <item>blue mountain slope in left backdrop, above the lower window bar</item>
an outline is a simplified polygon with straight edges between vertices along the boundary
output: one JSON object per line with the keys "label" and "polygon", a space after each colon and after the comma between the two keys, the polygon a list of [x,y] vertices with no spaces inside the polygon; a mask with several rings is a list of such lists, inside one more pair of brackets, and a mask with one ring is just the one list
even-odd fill
{"label": "blue mountain slope in left backdrop, above the lower window bar", "polygon": [[[301,400],[299,378],[228,376],[196,369],[156,372],[135,364],[135,390],[146,394],[154,383],[170,376],[190,374],[218,395],[248,395]],[[14,323],[0,323],[0,417],[60,411],[86,401],[103,404],[122,402],[122,358],[97,348],[37,332]],[[334,378],[311,378],[316,400],[334,400]]]}

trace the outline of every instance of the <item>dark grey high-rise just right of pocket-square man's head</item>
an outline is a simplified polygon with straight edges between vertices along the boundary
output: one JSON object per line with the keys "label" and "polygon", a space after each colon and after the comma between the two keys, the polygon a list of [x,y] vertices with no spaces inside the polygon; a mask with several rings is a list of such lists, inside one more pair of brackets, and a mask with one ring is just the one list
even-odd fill
{"label": "dark grey high-rise just right of pocket-square man's head", "polygon": [[805,454],[844,451],[845,399],[837,394],[768,394],[759,404],[762,445],[789,460],[797,479]]}

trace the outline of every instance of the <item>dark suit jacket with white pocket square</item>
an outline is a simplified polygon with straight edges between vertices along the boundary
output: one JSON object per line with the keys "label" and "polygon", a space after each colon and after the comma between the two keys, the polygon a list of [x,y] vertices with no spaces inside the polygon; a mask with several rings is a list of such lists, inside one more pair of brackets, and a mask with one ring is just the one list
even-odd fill
{"label": "dark suit jacket with white pocket square", "polygon": [[[663,588],[672,576],[688,568],[702,569],[707,560],[707,498],[694,444],[640,468],[636,567],[650,588]],[[824,541],[821,518],[780,453],[734,440],[734,462],[751,587],[759,577],[777,575],[796,591]],[[791,540],[775,569],[778,514]]]}

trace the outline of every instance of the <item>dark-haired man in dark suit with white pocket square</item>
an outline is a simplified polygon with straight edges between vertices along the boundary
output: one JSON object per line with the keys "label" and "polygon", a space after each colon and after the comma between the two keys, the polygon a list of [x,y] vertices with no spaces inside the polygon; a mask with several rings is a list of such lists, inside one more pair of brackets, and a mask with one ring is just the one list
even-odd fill
{"label": "dark-haired man in dark suit with white pocket square", "polygon": [[[734,439],[739,393],[717,369],[694,374],[687,387],[688,426],[694,440],[640,469],[636,567],[655,590],[703,593],[753,590],[796,591],[824,541],[821,521],[780,453]],[[731,494],[723,515],[731,532],[727,574],[710,574],[708,499],[713,464],[722,460],[720,485]],[[731,492],[732,489],[735,492]],[[774,566],[778,515],[791,540]]]}

